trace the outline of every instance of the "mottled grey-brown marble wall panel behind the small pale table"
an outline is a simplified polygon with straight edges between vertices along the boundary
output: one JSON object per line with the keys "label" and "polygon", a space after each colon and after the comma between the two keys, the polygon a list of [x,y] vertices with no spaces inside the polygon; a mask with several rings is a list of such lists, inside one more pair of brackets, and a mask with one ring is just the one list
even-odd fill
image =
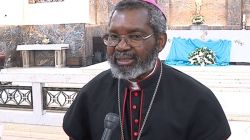
{"label": "mottled grey-brown marble wall panel behind the small pale table", "polygon": [[[50,44],[69,44],[70,48],[67,50],[67,57],[77,57],[84,59],[84,50],[86,46],[85,38],[85,24],[53,24],[53,25],[25,25],[25,26],[6,26],[0,27],[0,50],[4,51],[8,57],[12,58],[11,66],[20,66],[20,52],[16,51],[17,45],[22,44],[43,44],[46,38]],[[12,54],[12,55],[10,55]],[[52,65],[50,63],[53,53],[37,53],[36,65]],[[45,63],[46,62],[46,63]],[[18,63],[18,64],[14,64]],[[54,65],[54,62],[53,62]],[[82,64],[86,64],[83,62]]]}

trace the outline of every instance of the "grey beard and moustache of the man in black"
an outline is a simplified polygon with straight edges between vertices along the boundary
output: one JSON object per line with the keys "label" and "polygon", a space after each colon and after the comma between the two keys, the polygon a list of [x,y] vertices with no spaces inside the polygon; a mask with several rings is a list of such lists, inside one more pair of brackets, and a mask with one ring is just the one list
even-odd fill
{"label": "grey beard and moustache of the man in black", "polygon": [[[119,66],[115,62],[117,57],[133,57],[136,60],[136,64],[133,66]],[[115,52],[112,56],[108,57],[113,76],[126,80],[136,79],[138,76],[151,71],[154,68],[157,59],[158,50],[156,48],[152,50],[152,53],[150,53],[144,61],[129,52]]]}

